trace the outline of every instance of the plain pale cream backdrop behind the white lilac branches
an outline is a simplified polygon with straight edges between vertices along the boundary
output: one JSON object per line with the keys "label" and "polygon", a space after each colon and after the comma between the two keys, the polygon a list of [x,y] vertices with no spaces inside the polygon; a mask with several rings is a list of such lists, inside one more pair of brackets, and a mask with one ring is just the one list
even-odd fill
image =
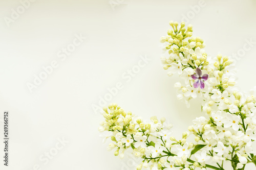
{"label": "plain pale cream backdrop behind the white lilac branches", "polygon": [[[31,170],[36,164],[47,170],[125,169],[131,160],[120,161],[106,151],[98,137],[103,118],[92,109],[99,96],[117,82],[123,88],[109,103],[117,102],[144,119],[166,117],[178,138],[191,120],[203,115],[197,101],[188,109],[176,99],[173,86],[178,78],[167,77],[159,48],[168,21],[181,22],[183,16],[193,13],[190,6],[198,6],[199,1],[119,2],[122,4],[113,9],[108,0],[37,0],[10,27],[4,17],[10,17],[20,2],[0,2],[0,119],[4,110],[10,111],[10,166],[4,167],[1,158],[0,169]],[[243,48],[246,39],[256,42],[256,1],[205,4],[189,23],[194,25],[194,35],[204,39],[208,54],[231,56]],[[57,53],[80,33],[87,39],[61,61]],[[141,55],[151,61],[126,82],[122,74],[137,65]],[[53,60],[59,66],[30,93],[26,84]],[[256,85],[255,62],[256,44],[237,63],[243,90]],[[69,143],[44,165],[39,157],[62,137]]]}

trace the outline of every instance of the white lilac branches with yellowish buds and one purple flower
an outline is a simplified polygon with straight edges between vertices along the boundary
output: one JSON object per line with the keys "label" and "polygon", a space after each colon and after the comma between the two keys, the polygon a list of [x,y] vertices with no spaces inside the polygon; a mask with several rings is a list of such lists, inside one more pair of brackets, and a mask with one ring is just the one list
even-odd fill
{"label": "white lilac branches with yellowish buds and one purple flower", "polygon": [[[181,138],[172,136],[172,125],[165,118],[144,121],[117,104],[103,108],[104,122],[99,131],[108,150],[123,158],[130,150],[141,163],[140,169],[245,169],[256,165],[253,143],[256,140],[256,98],[236,86],[236,70],[227,56],[211,57],[204,41],[193,37],[193,27],[169,22],[164,46],[163,68],[178,76],[177,98],[187,106],[191,99],[202,101],[205,116],[196,117]],[[200,87],[200,88],[198,88]],[[191,114],[191,113],[189,113]]]}

